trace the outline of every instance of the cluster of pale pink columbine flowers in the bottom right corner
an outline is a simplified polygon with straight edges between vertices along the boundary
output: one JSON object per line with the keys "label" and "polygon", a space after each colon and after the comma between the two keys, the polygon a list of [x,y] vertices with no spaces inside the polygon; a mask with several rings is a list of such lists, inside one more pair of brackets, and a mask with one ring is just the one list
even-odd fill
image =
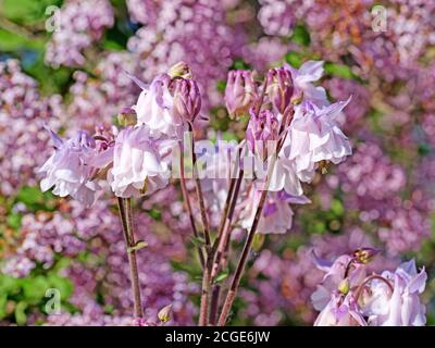
{"label": "cluster of pale pink columbine flowers in the bottom right corner", "polygon": [[394,272],[368,274],[365,264],[376,253],[362,248],[334,262],[316,260],[325,272],[311,299],[321,311],[315,326],[421,326],[426,322],[424,291],[427,274],[415,262],[400,264]]}

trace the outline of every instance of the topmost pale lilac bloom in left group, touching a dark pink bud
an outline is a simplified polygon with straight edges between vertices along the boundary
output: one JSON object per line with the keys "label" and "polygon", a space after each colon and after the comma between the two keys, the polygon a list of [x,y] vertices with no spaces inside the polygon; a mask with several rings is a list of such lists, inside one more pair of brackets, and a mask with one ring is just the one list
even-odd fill
{"label": "topmost pale lilac bloom in left group, touching a dark pink bud", "polygon": [[136,105],[132,108],[137,114],[137,124],[146,124],[152,136],[166,135],[179,138],[183,133],[183,120],[174,113],[174,99],[170,91],[171,76],[157,76],[149,88],[135,79],[142,88]]}

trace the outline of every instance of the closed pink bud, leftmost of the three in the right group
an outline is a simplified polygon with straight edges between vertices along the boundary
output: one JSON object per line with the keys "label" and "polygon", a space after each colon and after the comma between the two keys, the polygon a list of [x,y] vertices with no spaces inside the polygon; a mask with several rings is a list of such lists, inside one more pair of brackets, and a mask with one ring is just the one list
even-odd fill
{"label": "closed pink bud, leftmost of the three in the right group", "polygon": [[247,114],[257,98],[258,90],[252,72],[234,70],[228,73],[225,103],[232,119]]}

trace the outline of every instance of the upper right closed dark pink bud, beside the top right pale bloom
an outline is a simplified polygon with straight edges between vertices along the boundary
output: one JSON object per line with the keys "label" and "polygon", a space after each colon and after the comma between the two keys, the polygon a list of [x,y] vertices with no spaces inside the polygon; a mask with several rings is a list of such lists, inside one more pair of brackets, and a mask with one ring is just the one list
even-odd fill
{"label": "upper right closed dark pink bud, beside the top right pale bloom", "polygon": [[291,104],[294,92],[291,72],[285,67],[271,69],[268,72],[268,94],[274,108],[284,114]]}

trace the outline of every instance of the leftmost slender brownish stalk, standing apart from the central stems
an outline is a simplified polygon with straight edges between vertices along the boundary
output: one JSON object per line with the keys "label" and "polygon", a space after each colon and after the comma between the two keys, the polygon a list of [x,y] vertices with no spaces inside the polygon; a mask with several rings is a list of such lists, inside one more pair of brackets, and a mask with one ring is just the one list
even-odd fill
{"label": "leftmost slender brownish stalk, standing apart from the central stems", "polygon": [[126,249],[128,256],[132,291],[134,299],[134,313],[136,318],[142,318],[144,311],[141,307],[139,273],[137,270],[137,260],[136,260],[136,249],[135,249],[136,240],[133,228],[132,199],[117,197],[117,208],[120,210],[125,244],[127,247]]}

